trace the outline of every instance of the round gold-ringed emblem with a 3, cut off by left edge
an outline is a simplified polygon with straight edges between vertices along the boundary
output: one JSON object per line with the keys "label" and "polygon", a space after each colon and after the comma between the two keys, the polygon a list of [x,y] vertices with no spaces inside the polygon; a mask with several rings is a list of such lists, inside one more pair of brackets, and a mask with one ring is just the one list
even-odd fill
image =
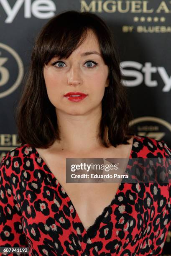
{"label": "round gold-ringed emblem with a 3, cut off by left edge", "polygon": [[0,98],[14,92],[24,74],[23,61],[18,53],[6,44],[0,43]]}

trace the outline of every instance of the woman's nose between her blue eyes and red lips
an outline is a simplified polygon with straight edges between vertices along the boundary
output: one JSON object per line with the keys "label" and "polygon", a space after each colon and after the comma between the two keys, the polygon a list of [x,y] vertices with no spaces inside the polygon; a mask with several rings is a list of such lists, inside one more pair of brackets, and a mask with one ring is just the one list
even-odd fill
{"label": "woman's nose between her blue eyes and red lips", "polygon": [[69,85],[81,85],[82,84],[82,78],[80,75],[81,70],[79,69],[79,67],[71,67],[69,69],[69,72],[67,74],[68,77],[68,84]]}

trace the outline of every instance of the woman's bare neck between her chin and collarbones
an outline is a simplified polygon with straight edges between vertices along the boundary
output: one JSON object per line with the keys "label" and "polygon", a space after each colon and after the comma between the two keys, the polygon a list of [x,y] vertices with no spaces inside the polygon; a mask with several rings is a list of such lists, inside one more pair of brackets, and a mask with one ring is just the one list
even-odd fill
{"label": "woman's bare neck between her chin and collarbones", "polygon": [[85,115],[68,115],[57,111],[61,141],[53,146],[59,151],[72,153],[89,152],[102,147],[98,138],[101,111]]}

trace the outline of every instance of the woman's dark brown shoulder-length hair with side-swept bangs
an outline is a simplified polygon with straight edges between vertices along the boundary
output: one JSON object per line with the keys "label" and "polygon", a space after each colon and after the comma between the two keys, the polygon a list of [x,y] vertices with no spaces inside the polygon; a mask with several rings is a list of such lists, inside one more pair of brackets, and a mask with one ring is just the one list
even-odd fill
{"label": "woman's dark brown shoulder-length hair with side-swept bangs", "polygon": [[18,143],[48,148],[61,140],[54,105],[48,99],[43,67],[54,57],[68,58],[92,30],[97,36],[102,58],[109,69],[109,86],[102,99],[99,138],[104,147],[105,131],[110,145],[128,144],[133,135],[129,122],[133,119],[126,89],[121,83],[120,58],[112,32],[97,15],[67,11],[56,15],[42,28],[31,56],[31,65],[16,109]]}

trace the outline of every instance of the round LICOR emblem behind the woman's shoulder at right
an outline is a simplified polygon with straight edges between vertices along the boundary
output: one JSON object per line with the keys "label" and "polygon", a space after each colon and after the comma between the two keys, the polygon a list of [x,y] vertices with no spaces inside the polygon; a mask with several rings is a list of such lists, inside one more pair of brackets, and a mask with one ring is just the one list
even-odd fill
{"label": "round LICOR emblem behind the woman's shoulder at right", "polygon": [[171,138],[171,124],[161,118],[143,116],[133,119],[129,125],[134,127],[135,133],[139,136],[147,136],[163,141],[168,141],[167,138]]}

